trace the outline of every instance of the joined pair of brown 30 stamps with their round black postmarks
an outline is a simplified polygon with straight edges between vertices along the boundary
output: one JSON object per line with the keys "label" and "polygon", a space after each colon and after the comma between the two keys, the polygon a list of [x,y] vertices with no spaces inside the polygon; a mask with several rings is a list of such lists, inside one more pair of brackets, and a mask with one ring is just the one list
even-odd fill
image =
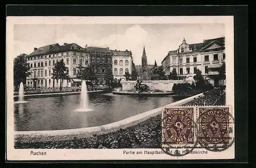
{"label": "joined pair of brown 30 stamps with their round black postmarks", "polygon": [[170,156],[185,156],[195,149],[222,152],[234,143],[230,106],[169,107],[163,110],[161,123],[160,149]]}

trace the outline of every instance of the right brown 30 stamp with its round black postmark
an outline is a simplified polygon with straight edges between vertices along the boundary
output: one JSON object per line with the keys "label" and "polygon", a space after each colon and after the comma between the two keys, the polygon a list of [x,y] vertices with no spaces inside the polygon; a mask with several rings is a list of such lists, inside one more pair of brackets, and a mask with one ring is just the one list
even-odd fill
{"label": "right brown 30 stamp with its round black postmark", "polygon": [[222,152],[234,143],[234,117],[231,106],[199,106],[199,147]]}

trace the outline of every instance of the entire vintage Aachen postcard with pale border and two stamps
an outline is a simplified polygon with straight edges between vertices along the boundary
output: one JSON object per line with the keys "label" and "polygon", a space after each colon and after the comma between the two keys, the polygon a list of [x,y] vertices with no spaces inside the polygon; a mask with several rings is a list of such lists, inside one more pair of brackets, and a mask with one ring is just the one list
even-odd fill
{"label": "entire vintage Aachen postcard with pale border and two stamps", "polygon": [[7,160],[234,159],[232,16],[7,17]]}

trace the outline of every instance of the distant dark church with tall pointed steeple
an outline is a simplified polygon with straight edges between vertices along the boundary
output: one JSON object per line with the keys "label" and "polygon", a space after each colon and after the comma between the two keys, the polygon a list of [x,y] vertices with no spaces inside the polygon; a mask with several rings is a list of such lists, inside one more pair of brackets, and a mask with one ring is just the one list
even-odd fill
{"label": "distant dark church with tall pointed steeple", "polygon": [[151,80],[154,67],[155,65],[147,64],[146,51],[144,46],[142,57],[141,57],[141,65],[135,66],[136,70],[138,71],[139,78],[141,80]]}

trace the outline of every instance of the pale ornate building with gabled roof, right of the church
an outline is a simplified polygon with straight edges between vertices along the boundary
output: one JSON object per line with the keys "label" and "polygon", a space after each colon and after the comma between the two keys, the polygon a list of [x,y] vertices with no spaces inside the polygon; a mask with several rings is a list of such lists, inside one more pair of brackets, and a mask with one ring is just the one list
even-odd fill
{"label": "pale ornate building with gabled roof, right of the church", "polygon": [[166,75],[176,70],[180,79],[200,69],[212,85],[218,85],[218,70],[225,62],[225,57],[225,37],[195,44],[187,44],[184,38],[178,50],[168,52],[162,66]]}

